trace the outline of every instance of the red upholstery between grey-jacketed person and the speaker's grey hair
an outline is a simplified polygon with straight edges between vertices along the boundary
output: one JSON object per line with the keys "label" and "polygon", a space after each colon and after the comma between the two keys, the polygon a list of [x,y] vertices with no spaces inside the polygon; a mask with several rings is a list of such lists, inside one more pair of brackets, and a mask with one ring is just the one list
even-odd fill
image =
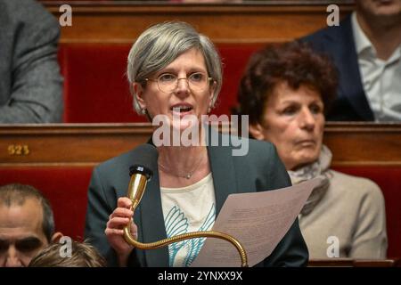
{"label": "red upholstery between grey-jacketed person and the speaker's grey hair", "polygon": [[144,122],[127,84],[129,45],[63,45],[64,122]]}

